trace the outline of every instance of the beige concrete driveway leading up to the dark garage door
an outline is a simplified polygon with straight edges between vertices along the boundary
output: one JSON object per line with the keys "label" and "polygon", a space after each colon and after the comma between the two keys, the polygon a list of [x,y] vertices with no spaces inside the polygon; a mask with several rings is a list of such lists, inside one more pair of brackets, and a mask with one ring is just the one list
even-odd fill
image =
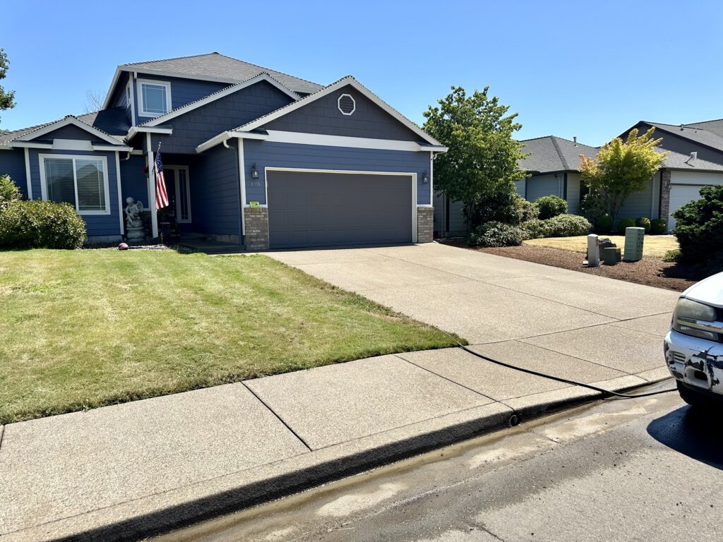
{"label": "beige concrete driveway leading up to the dark garage door", "polygon": [[[591,381],[601,368],[665,374],[673,291],[436,243],[267,254],[504,361],[562,374],[588,366]],[[424,353],[403,356],[425,363]]]}

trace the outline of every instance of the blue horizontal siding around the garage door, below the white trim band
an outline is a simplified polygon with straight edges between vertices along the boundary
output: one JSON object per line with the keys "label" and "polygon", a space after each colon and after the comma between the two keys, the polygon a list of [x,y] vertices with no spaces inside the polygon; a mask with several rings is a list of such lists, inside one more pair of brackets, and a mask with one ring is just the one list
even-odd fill
{"label": "blue horizontal siding around the garage door, below the white trim band", "polygon": [[[338,169],[350,171],[390,171],[417,174],[417,205],[430,205],[429,186],[422,181],[429,175],[429,152],[403,150],[354,149],[322,145],[296,145],[244,140],[247,202],[266,203],[264,168]],[[258,179],[251,178],[256,164]],[[384,197],[384,194],[380,194]]]}

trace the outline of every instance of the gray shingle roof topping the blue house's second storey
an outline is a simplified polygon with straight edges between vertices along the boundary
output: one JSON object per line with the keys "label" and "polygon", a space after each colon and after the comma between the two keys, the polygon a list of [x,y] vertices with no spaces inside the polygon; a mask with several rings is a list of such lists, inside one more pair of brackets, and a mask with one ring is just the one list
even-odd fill
{"label": "gray shingle roof topping the blue house's second storey", "polygon": [[299,93],[315,93],[323,87],[315,82],[299,79],[293,75],[276,72],[273,69],[263,68],[256,64],[250,64],[221,53],[207,53],[194,56],[181,56],[176,59],[152,60],[145,62],[133,62],[121,64],[123,68],[132,68],[142,71],[157,70],[159,72],[175,72],[181,76],[193,77],[215,77],[229,83],[246,81],[260,73],[266,72],[281,82],[282,85]]}

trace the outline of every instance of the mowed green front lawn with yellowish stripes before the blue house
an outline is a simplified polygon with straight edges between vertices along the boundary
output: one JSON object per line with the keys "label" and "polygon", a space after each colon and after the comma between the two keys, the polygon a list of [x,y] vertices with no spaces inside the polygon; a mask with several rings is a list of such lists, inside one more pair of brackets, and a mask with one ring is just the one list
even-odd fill
{"label": "mowed green front lawn with yellowish stripes before the blue house", "polygon": [[453,344],[265,256],[0,252],[0,304],[0,423]]}

